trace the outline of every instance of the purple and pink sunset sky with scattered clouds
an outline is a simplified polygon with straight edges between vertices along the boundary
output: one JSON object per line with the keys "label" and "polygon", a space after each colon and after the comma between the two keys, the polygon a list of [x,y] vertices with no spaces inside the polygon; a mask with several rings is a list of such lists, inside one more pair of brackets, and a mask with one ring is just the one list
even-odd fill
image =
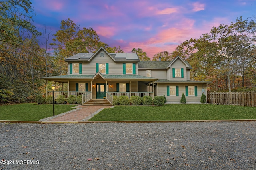
{"label": "purple and pink sunset sky with scattered clouds", "polygon": [[[100,40],[125,52],[141,48],[149,57],[172,52],[185,40],[237,17],[256,17],[256,0],[31,0],[34,25],[55,34],[70,18],[92,27]],[[250,20],[250,18],[249,18]],[[53,36],[51,37],[51,39]]]}

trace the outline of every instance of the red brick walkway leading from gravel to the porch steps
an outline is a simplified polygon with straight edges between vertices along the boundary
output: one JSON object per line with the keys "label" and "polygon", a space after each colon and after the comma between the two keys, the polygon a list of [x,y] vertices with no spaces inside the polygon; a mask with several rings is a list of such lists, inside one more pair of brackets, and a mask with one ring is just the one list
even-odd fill
{"label": "red brick walkway leading from gravel to the porch steps", "polygon": [[77,111],[73,111],[62,115],[60,117],[56,117],[50,119],[50,122],[71,122],[71,121],[82,121],[84,118],[88,117],[92,113],[96,112],[98,109],[101,108],[110,108],[111,106],[80,106],[82,109]]}

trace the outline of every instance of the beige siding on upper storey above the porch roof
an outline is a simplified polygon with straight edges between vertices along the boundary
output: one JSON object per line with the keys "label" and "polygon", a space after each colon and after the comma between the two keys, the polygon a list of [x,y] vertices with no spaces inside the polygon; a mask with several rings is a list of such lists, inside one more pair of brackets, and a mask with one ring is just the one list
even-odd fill
{"label": "beige siding on upper storey above the porch roof", "polygon": [[[100,53],[104,53],[104,57],[100,57]],[[108,63],[108,74],[109,75],[122,75],[123,74],[123,62],[115,62],[109,57],[104,51],[98,53],[90,62],[82,63],[82,74],[83,75],[94,75],[96,74],[96,63]],[[72,62],[75,63],[75,62]],[[77,62],[78,63],[78,62]],[[136,62],[126,62],[136,63]],[[68,74],[70,73],[70,67],[68,63]],[[136,63],[136,75],[138,75],[138,65]]]}

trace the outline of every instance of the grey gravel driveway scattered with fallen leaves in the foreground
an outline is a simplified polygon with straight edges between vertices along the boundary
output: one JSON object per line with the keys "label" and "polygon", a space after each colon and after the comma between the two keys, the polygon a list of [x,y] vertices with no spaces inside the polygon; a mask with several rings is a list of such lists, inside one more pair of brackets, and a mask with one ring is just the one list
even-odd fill
{"label": "grey gravel driveway scattered with fallen leaves in the foreground", "polygon": [[255,170],[256,122],[0,123],[0,159],[8,170]]}

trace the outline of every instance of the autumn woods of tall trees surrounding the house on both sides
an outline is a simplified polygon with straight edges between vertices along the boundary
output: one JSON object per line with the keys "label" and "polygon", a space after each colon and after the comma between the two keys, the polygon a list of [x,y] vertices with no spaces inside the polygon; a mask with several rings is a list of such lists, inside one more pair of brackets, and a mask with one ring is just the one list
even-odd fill
{"label": "autumn woods of tall trees surrounding the house on both sides", "polygon": [[[101,42],[93,28],[81,29],[70,18],[60,21],[60,30],[50,41],[51,30],[45,27],[39,32],[41,28],[32,24],[34,15],[30,0],[0,2],[0,104],[34,101],[46,88],[40,77],[67,73],[67,57],[95,52],[101,46],[108,52],[124,52],[120,46]],[[161,61],[170,61],[179,55],[192,66],[192,80],[212,81],[209,91],[256,91],[255,19],[241,16],[230,25],[213,27],[198,39],[184,41],[173,52],[157,53],[152,60],[161,57]],[[131,52],[141,60],[150,60],[139,47]]]}

